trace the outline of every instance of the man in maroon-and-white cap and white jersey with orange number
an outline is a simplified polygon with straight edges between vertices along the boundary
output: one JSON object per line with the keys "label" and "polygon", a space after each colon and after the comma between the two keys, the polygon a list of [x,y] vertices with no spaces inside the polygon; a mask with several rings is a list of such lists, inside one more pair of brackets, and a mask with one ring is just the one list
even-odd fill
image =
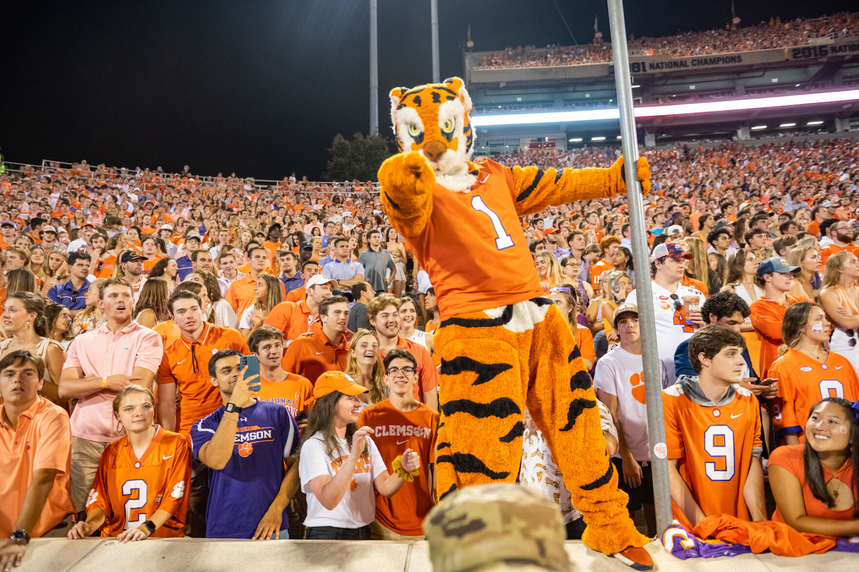
{"label": "man in maroon-and-white cap and white jersey with orange number", "polygon": [[[702,292],[682,284],[685,260],[691,258],[692,255],[680,246],[665,243],[656,246],[650,254],[650,274],[654,277],[650,288],[656,320],[656,344],[669,380],[677,379],[674,375],[674,352],[677,346],[704,326],[700,309],[687,312],[683,301],[685,297],[698,298],[700,308],[705,300]],[[626,303],[638,305],[638,290],[632,290],[626,297]]]}

